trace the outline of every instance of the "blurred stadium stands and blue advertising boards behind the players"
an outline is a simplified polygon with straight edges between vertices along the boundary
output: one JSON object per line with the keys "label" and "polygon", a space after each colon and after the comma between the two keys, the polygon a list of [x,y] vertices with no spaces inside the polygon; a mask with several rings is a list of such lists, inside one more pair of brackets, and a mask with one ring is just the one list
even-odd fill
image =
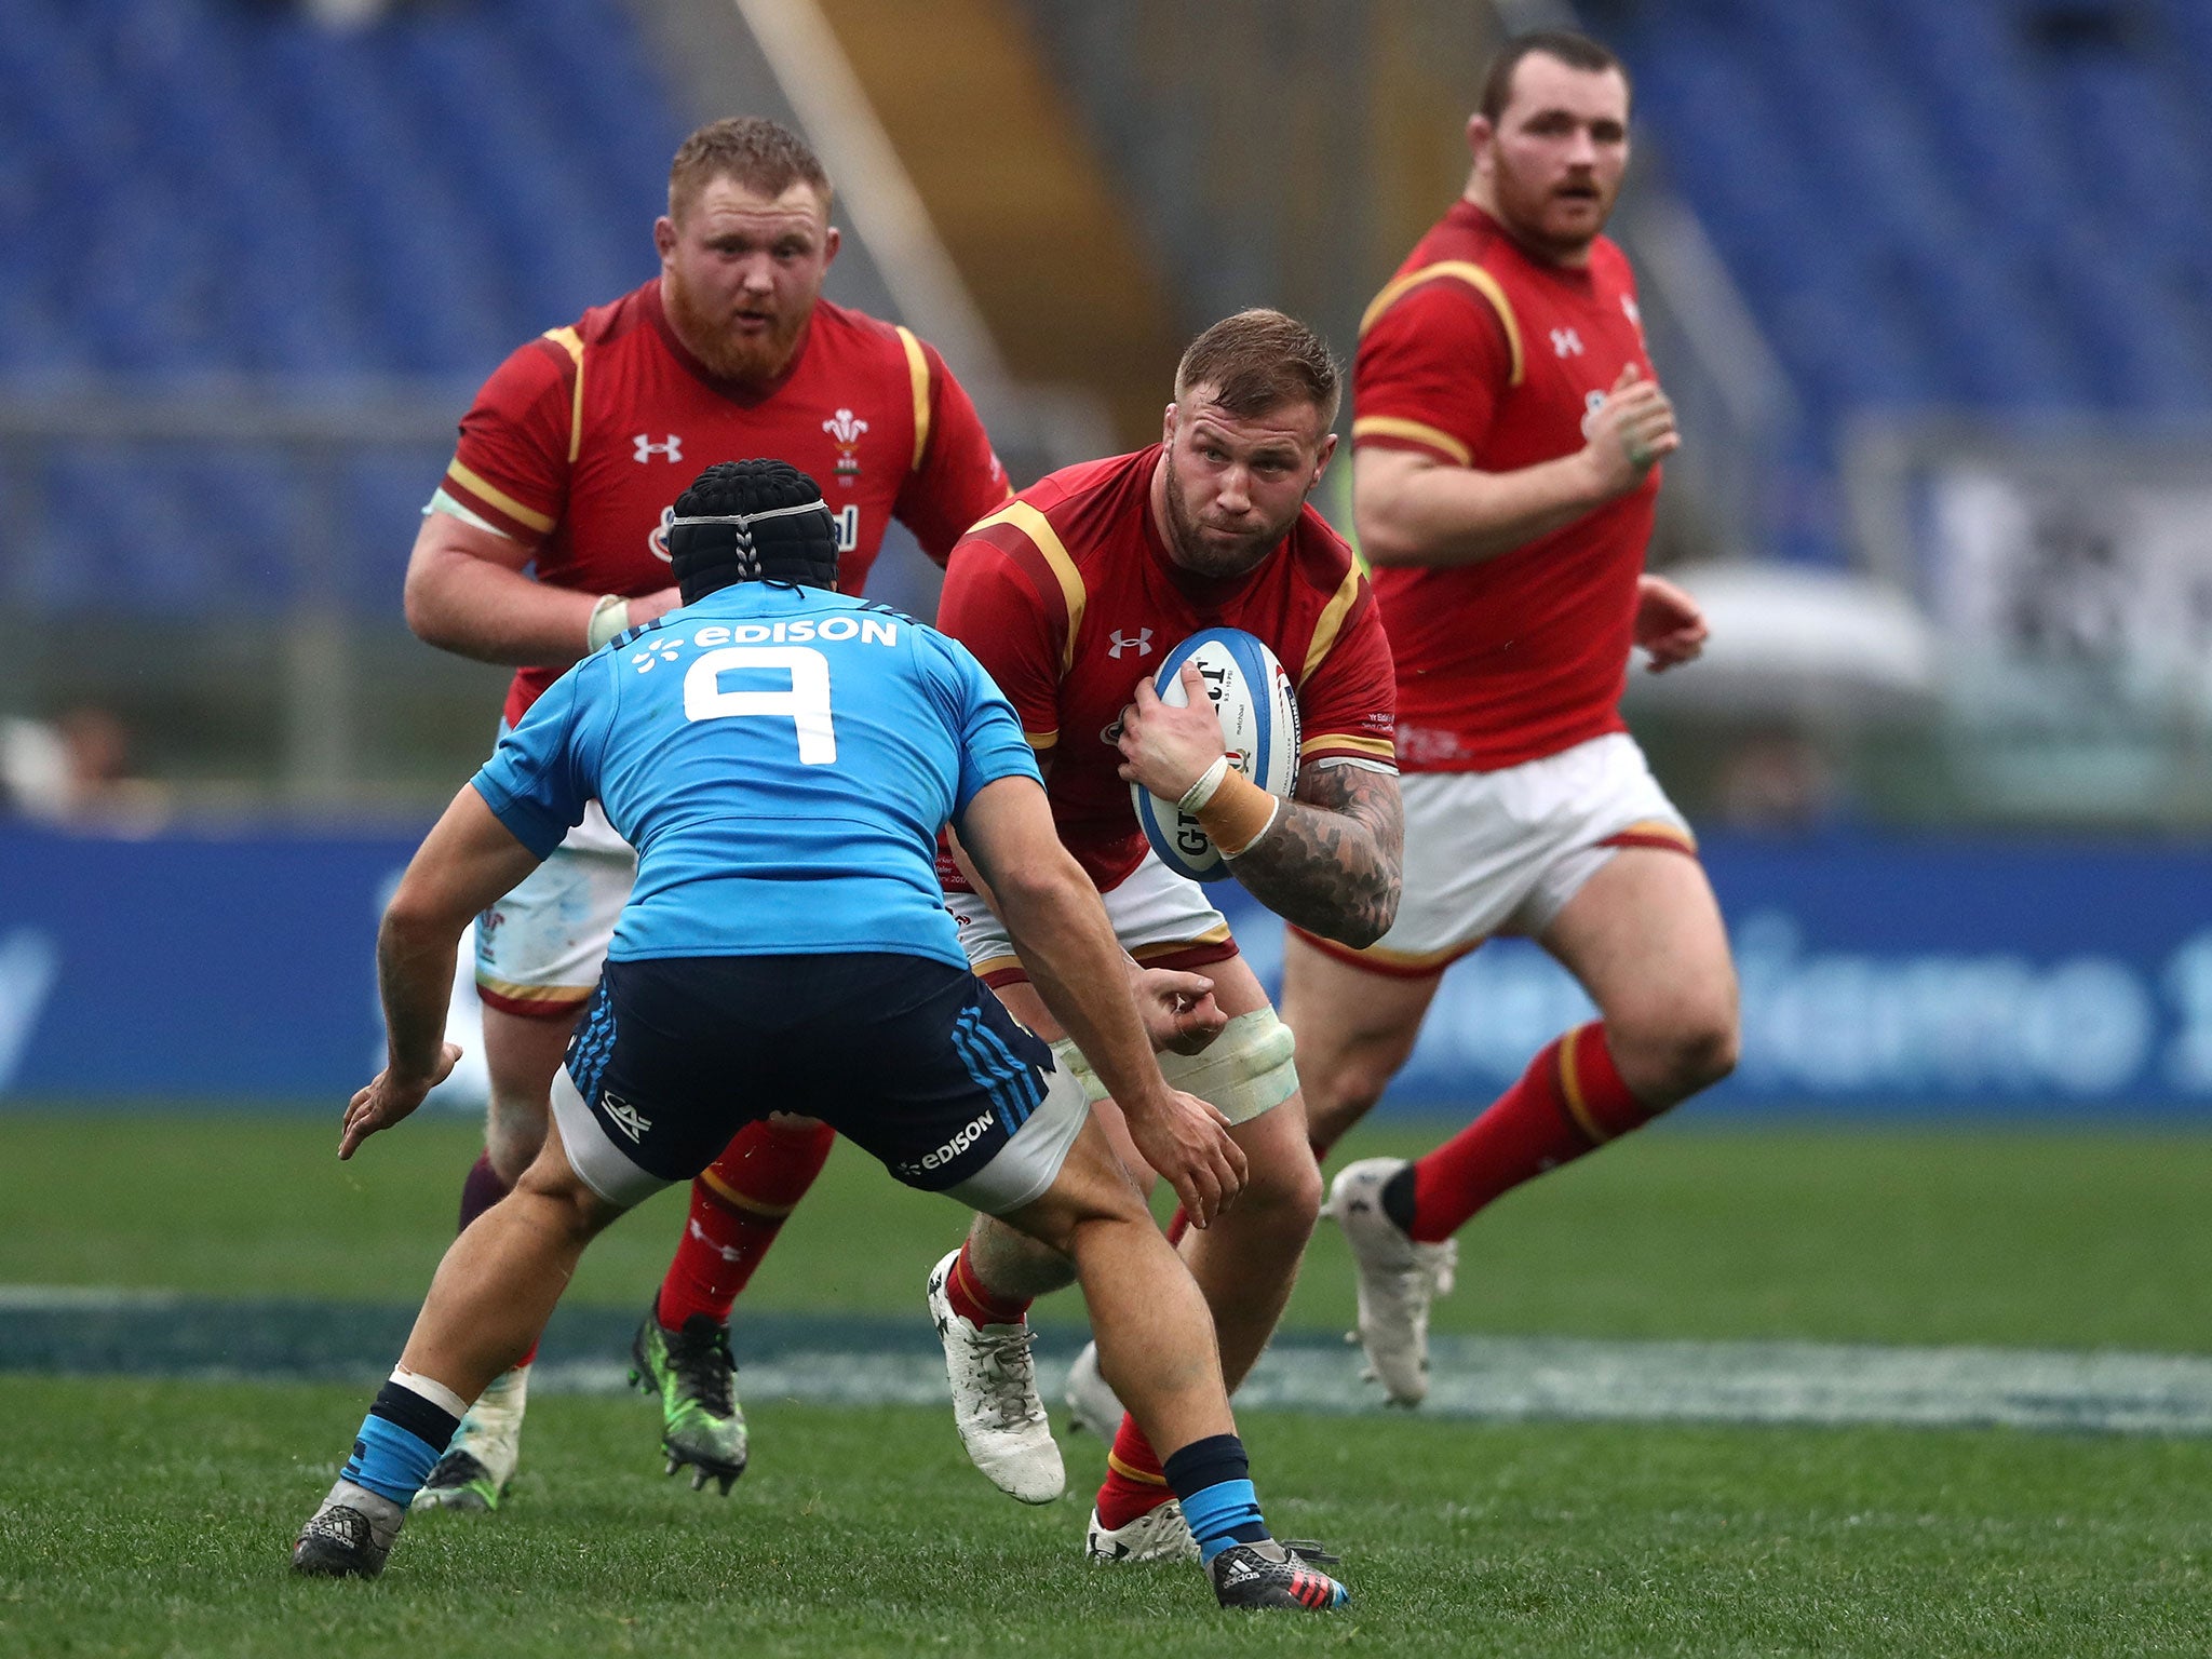
{"label": "blurred stadium stands and blue advertising boards behind the players", "polygon": [[[653,274],[695,124],[807,133],[830,296],[1029,482],[1241,305],[1349,358],[1546,24],[1635,73],[1652,564],[1714,624],[1628,701],[1743,969],[1697,1110],[2212,1113],[2212,0],[0,0],[0,1102],[367,1075],[507,679],[407,633],[420,509]],[[1579,1006],[1484,949],[1391,1104]]]}

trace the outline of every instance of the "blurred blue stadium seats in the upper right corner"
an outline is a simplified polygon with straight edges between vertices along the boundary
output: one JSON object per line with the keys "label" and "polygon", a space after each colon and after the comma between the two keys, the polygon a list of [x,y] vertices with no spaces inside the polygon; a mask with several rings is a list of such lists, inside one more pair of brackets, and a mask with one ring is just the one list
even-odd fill
{"label": "blurred blue stadium seats in the upper right corner", "polygon": [[2212,409],[2205,0],[1593,0],[1823,442]]}

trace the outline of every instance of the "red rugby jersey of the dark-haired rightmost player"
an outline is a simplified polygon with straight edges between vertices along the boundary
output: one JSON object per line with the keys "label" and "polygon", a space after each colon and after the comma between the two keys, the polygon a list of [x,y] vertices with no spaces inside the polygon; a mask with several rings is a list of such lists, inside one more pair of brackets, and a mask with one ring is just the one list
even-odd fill
{"label": "red rugby jersey of the dark-haired rightmost player", "polygon": [[[1352,442],[1517,471],[1584,445],[1635,363],[1637,288],[1599,237],[1584,270],[1524,252],[1458,201],[1367,307]],[[1374,573],[1398,657],[1398,761],[1491,772],[1626,730],[1619,717],[1659,469],[1593,513],[1482,564]]]}

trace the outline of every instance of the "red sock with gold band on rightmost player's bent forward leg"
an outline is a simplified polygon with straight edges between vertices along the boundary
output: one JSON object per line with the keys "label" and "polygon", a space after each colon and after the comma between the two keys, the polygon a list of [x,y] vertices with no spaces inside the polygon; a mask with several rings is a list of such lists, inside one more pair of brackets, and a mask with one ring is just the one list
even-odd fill
{"label": "red sock with gold band on rightmost player's bent forward leg", "polygon": [[1544,1048],[1520,1082],[1413,1164],[1418,1243],[1449,1239],[1500,1192],[1573,1164],[1657,1113],[1628,1093],[1597,1020]]}

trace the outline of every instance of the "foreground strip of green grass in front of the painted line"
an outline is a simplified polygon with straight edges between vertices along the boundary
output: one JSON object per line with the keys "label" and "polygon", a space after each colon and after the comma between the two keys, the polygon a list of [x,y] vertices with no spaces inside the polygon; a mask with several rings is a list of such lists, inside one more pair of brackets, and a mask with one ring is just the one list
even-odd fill
{"label": "foreground strip of green grass in front of the painted line", "polygon": [[1077,1559],[940,1411],[754,1400],[730,1500],[657,1475],[650,1407],[533,1402],[493,1517],[420,1517],[376,1584],[292,1531],[365,1396],[0,1378],[0,1652],[2203,1652],[2212,1444],[2011,1433],[1245,1425],[1270,1520],[1347,1551],[1338,1617],[1219,1615],[1194,1568]]}

